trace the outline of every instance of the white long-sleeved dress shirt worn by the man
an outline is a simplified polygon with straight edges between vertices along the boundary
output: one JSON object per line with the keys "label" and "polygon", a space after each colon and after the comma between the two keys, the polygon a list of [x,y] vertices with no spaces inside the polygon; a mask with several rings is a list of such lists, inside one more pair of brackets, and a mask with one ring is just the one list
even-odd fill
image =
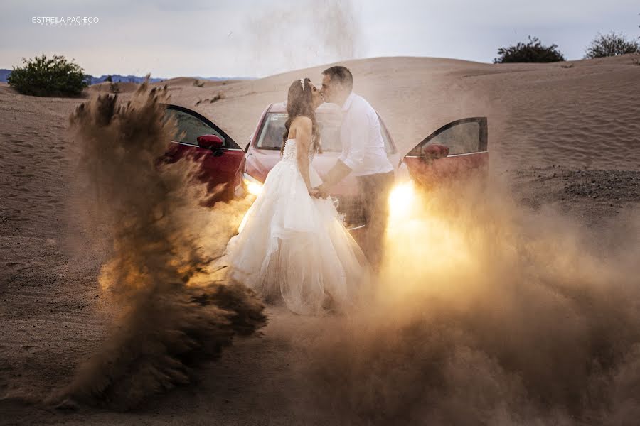
{"label": "white long-sleeved dress shirt worn by the man", "polygon": [[342,153],[339,159],[356,176],[392,171],[393,165],[387,158],[380,120],[375,109],[366,99],[351,92],[342,111]]}

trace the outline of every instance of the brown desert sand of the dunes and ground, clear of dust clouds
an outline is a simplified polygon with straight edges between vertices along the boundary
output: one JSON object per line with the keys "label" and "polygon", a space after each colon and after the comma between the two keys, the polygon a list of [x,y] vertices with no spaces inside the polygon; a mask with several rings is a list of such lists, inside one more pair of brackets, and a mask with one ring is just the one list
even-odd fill
{"label": "brown desert sand of the dunes and ground, clear of dust clouds", "polygon": [[[614,235],[624,232],[619,222],[639,219],[640,66],[631,56],[534,65],[373,58],[343,65],[400,153],[449,121],[487,116],[491,179],[509,187],[524,209],[551,208],[590,229],[604,258]],[[156,85],[167,84],[171,102],[200,111],[245,146],[267,104],[282,102],[296,78],[318,84],[323,69],[203,87],[187,77]],[[122,99],[134,88],[121,84]],[[78,99],[39,98],[0,86],[0,423],[336,422],[335,413],[312,408],[313,393],[296,366],[309,335],[339,319],[275,307],[267,307],[264,336],[237,339],[201,370],[201,381],[133,412],[67,413],[40,403],[100,347],[117,314],[97,284],[105,251],[74,221],[81,207],[69,194],[78,147],[65,131],[78,104],[106,91],[102,84]],[[626,247],[640,253],[637,245]]]}

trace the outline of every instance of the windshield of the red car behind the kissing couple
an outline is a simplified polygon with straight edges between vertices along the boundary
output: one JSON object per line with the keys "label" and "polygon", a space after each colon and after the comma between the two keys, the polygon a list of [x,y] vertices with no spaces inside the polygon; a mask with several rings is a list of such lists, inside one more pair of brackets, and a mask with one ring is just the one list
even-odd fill
{"label": "windshield of the red car behind the kissing couple", "polygon": [[[267,114],[265,124],[262,125],[260,138],[257,140],[257,148],[260,149],[280,149],[282,146],[282,135],[284,134],[284,124],[287,122],[287,113],[270,112]],[[340,124],[342,118],[340,114],[319,113],[316,120],[320,128],[320,143],[322,151],[340,152]],[[381,126],[383,139],[385,141],[385,151],[393,153],[393,147],[384,126]]]}

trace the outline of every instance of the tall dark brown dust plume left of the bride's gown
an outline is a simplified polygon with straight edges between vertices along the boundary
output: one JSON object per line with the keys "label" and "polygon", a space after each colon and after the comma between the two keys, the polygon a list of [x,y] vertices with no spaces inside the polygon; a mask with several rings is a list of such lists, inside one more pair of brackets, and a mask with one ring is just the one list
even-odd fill
{"label": "tall dark brown dust plume left of the bride's gown", "polygon": [[166,99],[166,89],[145,82],[126,104],[101,95],[70,116],[81,152],[78,178],[88,186],[86,204],[95,203],[90,219],[106,224],[112,241],[100,285],[122,315],[107,342],[50,398],[63,407],[130,408],[188,383],[198,361],[215,359],[235,335],[265,324],[251,290],[210,271],[247,201],[201,207],[206,185],[194,183],[198,163],[159,160],[176,131],[164,118]]}

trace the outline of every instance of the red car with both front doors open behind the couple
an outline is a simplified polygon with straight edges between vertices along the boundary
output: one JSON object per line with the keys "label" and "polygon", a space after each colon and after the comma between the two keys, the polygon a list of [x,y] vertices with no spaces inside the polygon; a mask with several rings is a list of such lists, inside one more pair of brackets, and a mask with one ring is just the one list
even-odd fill
{"label": "red car with both front doors open behind the couple", "polygon": [[[201,158],[201,179],[208,182],[209,189],[213,191],[216,185],[224,184],[223,190],[215,195],[215,200],[230,200],[243,191],[257,194],[269,170],[280,160],[282,134],[287,121],[283,103],[267,106],[244,151],[218,126],[195,111],[167,105],[167,114],[176,117],[178,134],[184,135],[179,141],[172,141],[175,145],[169,149],[168,155],[174,160],[187,153]],[[341,153],[338,137],[341,111],[334,104],[323,104],[316,110],[316,119],[320,126],[323,152],[316,154],[313,164],[322,176],[336,163]],[[440,180],[474,171],[486,173],[489,162],[486,117],[466,118],[446,124],[418,143],[402,159],[381,118],[380,129],[391,163],[395,168],[406,167],[411,178],[419,185],[433,185]],[[331,196],[348,229],[366,226],[358,182],[353,175],[339,182]]]}

